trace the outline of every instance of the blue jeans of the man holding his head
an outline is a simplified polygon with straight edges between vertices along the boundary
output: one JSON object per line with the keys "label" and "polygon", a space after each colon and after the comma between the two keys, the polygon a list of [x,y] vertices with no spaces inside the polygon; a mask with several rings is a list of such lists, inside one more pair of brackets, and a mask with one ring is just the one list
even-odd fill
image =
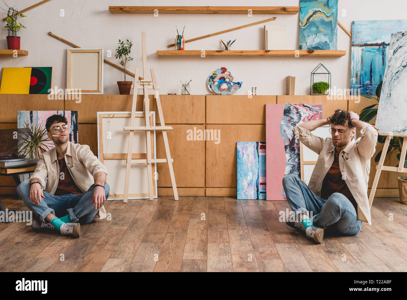
{"label": "blue jeans of the man holding his head", "polygon": [[343,194],[333,193],[328,199],[322,199],[293,174],[284,176],[282,185],[291,210],[295,214],[312,214],[314,226],[337,231],[345,236],[354,236],[362,228],[363,222],[358,221],[354,206]]}

